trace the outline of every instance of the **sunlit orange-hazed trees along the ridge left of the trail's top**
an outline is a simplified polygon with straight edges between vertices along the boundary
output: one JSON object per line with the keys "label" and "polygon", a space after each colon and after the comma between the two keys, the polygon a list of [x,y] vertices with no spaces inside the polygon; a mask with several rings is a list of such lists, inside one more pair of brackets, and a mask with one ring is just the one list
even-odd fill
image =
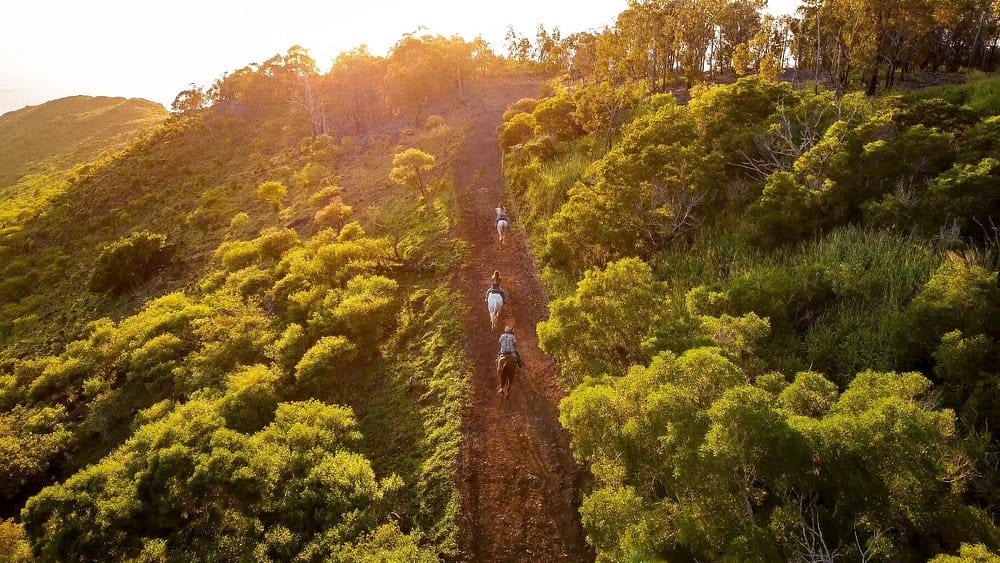
{"label": "sunlit orange-hazed trees along the ridge left of the trail's top", "polygon": [[482,38],[405,35],[387,57],[361,46],[321,73],[308,51],[295,46],[225,74],[208,90],[181,92],[172,109],[190,114],[215,106],[258,119],[281,110],[314,134],[358,135],[400,116],[418,122],[429,107],[462,99],[470,83],[501,63]]}

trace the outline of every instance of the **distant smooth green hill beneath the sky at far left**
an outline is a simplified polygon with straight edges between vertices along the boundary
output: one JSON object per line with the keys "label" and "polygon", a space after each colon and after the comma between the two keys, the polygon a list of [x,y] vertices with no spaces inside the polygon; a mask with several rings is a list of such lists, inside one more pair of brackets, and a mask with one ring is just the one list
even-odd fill
{"label": "distant smooth green hill beneath the sky at far left", "polygon": [[141,98],[70,96],[0,115],[0,186],[124,148],[170,113]]}

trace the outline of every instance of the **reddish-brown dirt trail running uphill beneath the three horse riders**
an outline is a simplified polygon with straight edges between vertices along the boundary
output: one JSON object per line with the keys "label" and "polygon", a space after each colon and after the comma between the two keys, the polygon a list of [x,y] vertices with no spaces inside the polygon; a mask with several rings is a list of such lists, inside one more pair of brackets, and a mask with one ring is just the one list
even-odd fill
{"label": "reddish-brown dirt trail running uphill beneath the three horse riders", "polygon": [[[508,105],[537,92],[538,84],[497,87],[463,112],[470,125],[455,165],[462,209],[457,235],[469,243],[471,256],[454,283],[469,310],[465,349],[475,375],[458,468],[462,561],[594,559],[577,511],[580,468],[558,419],[557,369],[535,335],[535,325],[548,316],[548,301],[517,218],[503,249],[493,228],[493,207],[504,201],[496,127]],[[496,393],[500,332],[490,330],[484,302],[494,270],[508,294],[501,321],[515,327],[525,359],[506,399]]]}

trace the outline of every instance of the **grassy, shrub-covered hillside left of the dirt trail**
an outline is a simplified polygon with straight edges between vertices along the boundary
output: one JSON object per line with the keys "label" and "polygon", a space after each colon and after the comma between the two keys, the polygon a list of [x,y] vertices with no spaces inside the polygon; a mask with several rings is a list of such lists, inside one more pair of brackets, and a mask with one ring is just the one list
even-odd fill
{"label": "grassy, shrub-covered hillside left of the dirt trail", "polygon": [[452,111],[488,89],[322,133],[272,63],[0,206],[0,537],[36,556],[455,554]]}

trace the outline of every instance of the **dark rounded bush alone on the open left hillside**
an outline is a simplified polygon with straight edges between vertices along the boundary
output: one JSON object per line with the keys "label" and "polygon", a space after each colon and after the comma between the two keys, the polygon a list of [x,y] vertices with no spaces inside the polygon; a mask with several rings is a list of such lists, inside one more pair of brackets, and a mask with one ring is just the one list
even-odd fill
{"label": "dark rounded bush alone on the open left hillside", "polygon": [[146,230],[118,239],[101,249],[90,290],[121,293],[138,287],[155,276],[173,253],[167,237]]}

